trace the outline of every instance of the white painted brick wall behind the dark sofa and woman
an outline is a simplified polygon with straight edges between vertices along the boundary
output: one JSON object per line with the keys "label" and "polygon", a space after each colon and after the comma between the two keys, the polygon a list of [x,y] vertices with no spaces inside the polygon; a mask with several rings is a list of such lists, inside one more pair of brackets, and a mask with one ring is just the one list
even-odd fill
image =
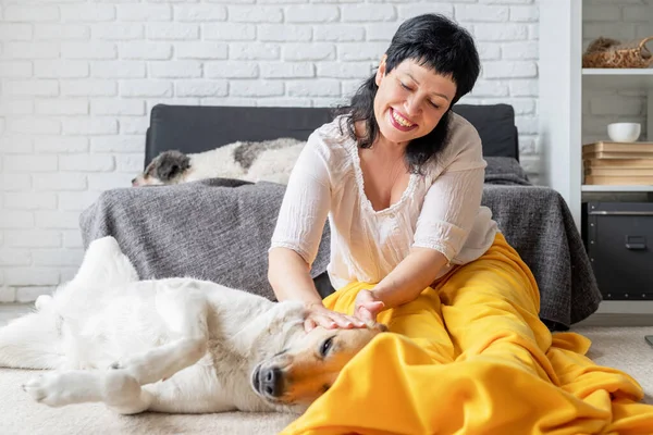
{"label": "white painted brick wall behind the dark sofa and woman", "polygon": [[0,302],[72,276],[79,211],[130,185],[152,105],[342,102],[424,12],[476,36],[483,73],[463,102],[514,104],[534,167],[537,0],[3,0]]}

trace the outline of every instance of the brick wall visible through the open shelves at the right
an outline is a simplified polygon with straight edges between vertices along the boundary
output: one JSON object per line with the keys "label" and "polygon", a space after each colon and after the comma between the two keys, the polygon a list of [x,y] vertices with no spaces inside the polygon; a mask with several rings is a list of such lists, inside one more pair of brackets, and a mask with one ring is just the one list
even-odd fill
{"label": "brick wall visible through the open shelves at the right", "polygon": [[[653,3],[643,3],[645,1],[641,0],[583,0],[583,49],[600,36],[623,41],[651,36]],[[645,140],[645,89],[611,87],[606,90],[601,88],[599,80],[594,82],[595,85],[583,88],[583,144],[608,139],[607,124],[614,122],[640,123],[640,140]]]}

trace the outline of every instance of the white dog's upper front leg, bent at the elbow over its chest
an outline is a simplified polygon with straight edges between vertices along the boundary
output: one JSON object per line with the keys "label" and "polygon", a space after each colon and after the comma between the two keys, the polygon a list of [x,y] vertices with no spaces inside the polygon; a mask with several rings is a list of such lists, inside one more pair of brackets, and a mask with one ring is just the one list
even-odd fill
{"label": "white dog's upper front leg, bent at the elbow over its chest", "polygon": [[157,295],[157,310],[171,335],[169,344],[136,355],[112,365],[132,374],[140,385],[167,380],[195,364],[207,352],[209,332],[206,296],[188,286],[168,289]]}

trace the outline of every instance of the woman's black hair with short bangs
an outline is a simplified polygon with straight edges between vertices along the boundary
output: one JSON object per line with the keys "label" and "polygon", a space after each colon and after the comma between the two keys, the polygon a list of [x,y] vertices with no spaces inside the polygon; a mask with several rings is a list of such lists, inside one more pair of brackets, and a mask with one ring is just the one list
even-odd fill
{"label": "woman's black hair with short bangs", "polygon": [[[463,27],[440,14],[424,14],[402,23],[385,51],[385,74],[405,60],[414,60],[438,74],[451,76],[456,84],[456,95],[449,109],[435,128],[414,139],[406,148],[406,162],[414,173],[444,148],[451,120],[452,107],[473,88],[480,74],[481,63],[473,38]],[[379,87],[375,74],[366,79],[348,104],[337,108],[337,115],[346,115],[347,133],[358,140],[359,147],[370,148],[379,135],[374,119],[374,97]],[[364,137],[356,135],[355,124],[365,121]]]}

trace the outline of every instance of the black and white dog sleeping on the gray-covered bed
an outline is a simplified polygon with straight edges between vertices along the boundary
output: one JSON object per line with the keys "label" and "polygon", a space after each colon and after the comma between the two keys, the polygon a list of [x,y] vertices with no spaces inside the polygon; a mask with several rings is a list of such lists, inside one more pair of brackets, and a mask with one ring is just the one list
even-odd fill
{"label": "black and white dog sleeping on the gray-covered bed", "polygon": [[193,154],[163,151],[132,185],[162,186],[217,177],[287,184],[305,144],[284,137],[260,142],[238,141]]}

